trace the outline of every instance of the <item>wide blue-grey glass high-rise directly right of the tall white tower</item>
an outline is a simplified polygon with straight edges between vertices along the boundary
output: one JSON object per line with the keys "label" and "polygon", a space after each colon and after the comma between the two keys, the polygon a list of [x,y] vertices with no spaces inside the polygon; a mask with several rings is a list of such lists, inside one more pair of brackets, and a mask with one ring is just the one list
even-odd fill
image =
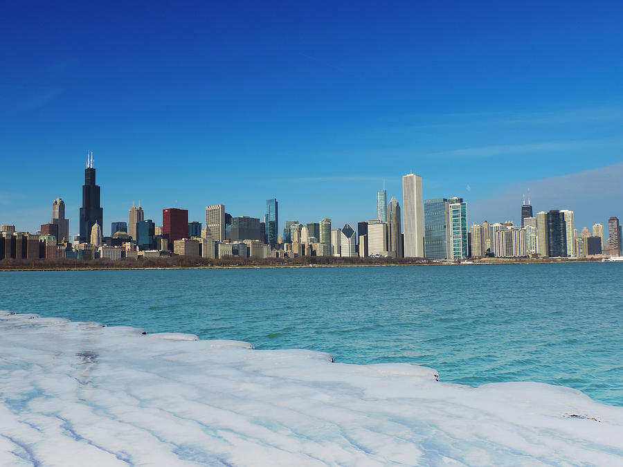
{"label": "wide blue-grey glass high-rise directly right of the tall white tower", "polygon": [[450,257],[450,208],[445,198],[424,201],[424,255],[429,259]]}

